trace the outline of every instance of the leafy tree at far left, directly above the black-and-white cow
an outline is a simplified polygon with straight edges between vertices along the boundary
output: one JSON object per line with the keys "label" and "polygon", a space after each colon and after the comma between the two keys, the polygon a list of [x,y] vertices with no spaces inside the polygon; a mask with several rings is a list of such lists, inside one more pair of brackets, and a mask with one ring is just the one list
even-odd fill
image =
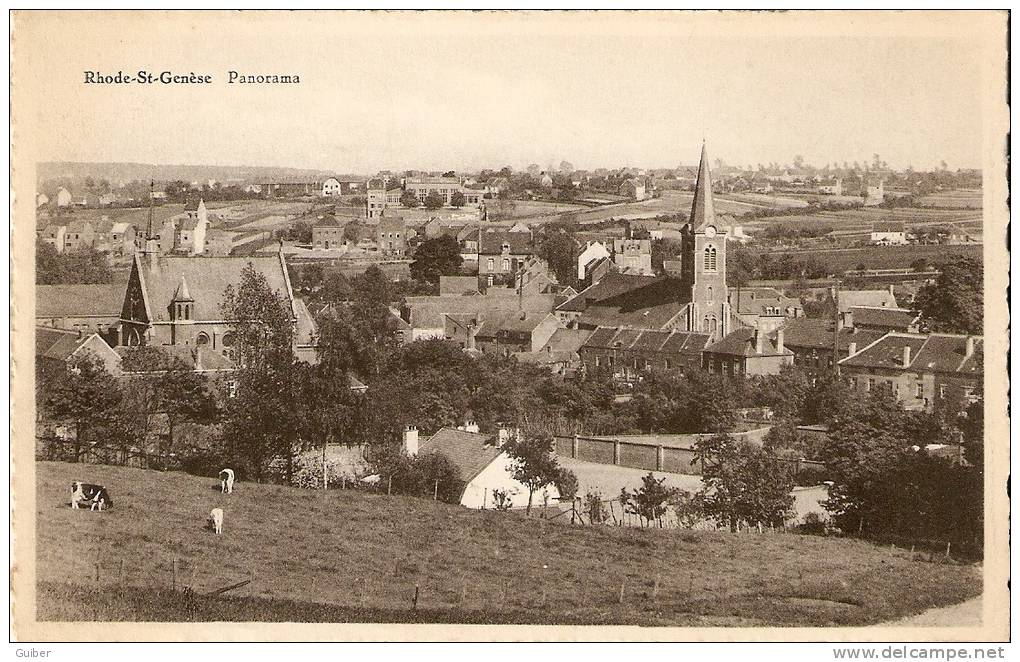
{"label": "leafy tree at far left, directly above the black-and-white cow", "polygon": [[89,449],[108,441],[122,399],[119,385],[97,359],[84,355],[71,360],[65,374],[41,386],[44,410],[74,428],[75,462]]}

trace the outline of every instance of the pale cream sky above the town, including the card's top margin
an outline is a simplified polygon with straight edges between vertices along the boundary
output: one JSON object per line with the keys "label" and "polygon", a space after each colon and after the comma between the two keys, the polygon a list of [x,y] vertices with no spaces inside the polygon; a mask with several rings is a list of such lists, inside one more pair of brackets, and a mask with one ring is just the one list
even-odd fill
{"label": "pale cream sky above the town, including the card's top margin", "polygon": [[[978,167],[987,44],[926,16],[22,15],[15,138],[34,132],[40,161],[338,173],[672,167],[703,139],[734,165]],[[214,83],[90,86],[86,69]]]}

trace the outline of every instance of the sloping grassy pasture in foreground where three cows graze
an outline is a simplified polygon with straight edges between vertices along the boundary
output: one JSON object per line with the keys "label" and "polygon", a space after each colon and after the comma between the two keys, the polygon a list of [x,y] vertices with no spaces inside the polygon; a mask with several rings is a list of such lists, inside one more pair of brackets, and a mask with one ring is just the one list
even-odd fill
{"label": "sloping grassy pasture in foreground where three cows graze", "polygon": [[[70,510],[74,479],[115,507]],[[40,620],[859,625],[980,592],[974,567],[851,540],[572,526],[248,482],[227,496],[214,478],[101,465],[39,462],[37,485]],[[222,536],[204,528],[215,506]]]}

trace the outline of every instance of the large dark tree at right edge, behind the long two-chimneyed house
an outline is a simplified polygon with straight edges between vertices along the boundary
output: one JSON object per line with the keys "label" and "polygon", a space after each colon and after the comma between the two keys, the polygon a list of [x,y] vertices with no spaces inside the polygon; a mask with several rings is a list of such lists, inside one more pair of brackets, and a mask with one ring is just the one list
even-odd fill
{"label": "large dark tree at right edge, behind the long two-chimneyed house", "polygon": [[981,261],[958,256],[938,265],[935,282],[921,288],[915,306],[934,332],[980,335],[984,328]]}

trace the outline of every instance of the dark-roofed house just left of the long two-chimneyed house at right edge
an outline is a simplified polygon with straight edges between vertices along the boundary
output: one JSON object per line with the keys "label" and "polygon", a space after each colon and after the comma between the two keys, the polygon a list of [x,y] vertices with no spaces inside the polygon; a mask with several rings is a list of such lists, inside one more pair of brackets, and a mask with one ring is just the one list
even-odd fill
{"label": "dark-roofed house just left of the long two-chimneyed house at right edge", "polygon": [[[831,319],[798,317],[783,326],[784,346],[794,353],[794,365],[813,377],[831,374],[835,369],[832,349],[835,322]],[[884,335],[884,332],[847,327],[840,324],[836,360],[855,354]]]}

